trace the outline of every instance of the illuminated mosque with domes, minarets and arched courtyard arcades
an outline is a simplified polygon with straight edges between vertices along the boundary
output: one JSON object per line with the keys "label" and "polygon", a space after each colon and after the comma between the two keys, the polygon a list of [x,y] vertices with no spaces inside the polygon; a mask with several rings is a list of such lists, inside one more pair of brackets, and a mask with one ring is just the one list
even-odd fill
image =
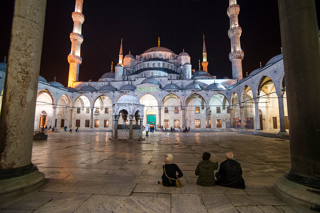
{"label": "illuminated mosque with domes, minarets and arched courtyard arcades", "polygon": [[[74,28],[70,34],[72,45],[68,55],[68,85],[64,87],[55,80],[48,82],[39,76],[34,128],[43,125],[57,129],[78,126],[80,131],[111,131],[115,125],[132,122],[132,125],[154,124],[176,129],[187,126],[192,131],[256,129],[287,133],[289,121],[282,54],[243,78],[242,29],[238,24],[240,7],[236,0],[229,2],[231,79],[217,79],[208,72],[210,65],[204,38],[203,60],[199,60],[197,69],[192,69],[188,53],[183,50],[176,54],[162,47],[158,38],[157,46],[140,55],[132,55],[131,52],[124,55],[121,40],[117,65],[111,65],[110,72],[101,73],[98,81],[80,82],[84,15],[83,0],[76,0],[72,13]],[[4,62],[0,64],[2,94],[5,70]],[[115,107],[124,95],[130,95],[127,100],[132,104],[144,105],[139,116],[134,111],[129,116],[119,114]]]}

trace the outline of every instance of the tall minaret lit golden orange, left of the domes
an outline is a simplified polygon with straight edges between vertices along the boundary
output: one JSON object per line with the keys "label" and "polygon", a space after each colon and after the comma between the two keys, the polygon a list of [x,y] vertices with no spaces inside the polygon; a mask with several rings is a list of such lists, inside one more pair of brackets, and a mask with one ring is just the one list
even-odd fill
{"label": "tall minaret lit golden orange, left of the domes", "polygon": [[83,36],[81,35],[81,27],[84,22],[84,15],[82,14],[83,0],[76,0],[75,11],[72,13],[73,19],[73,31],[70,33],[71,40],[71,52],[68,55],[69,78],[68,87],[72,87],[74,81],[78,81],[79,78],[79,65],[82,63],[80,57],[80,46],[83,42]]}

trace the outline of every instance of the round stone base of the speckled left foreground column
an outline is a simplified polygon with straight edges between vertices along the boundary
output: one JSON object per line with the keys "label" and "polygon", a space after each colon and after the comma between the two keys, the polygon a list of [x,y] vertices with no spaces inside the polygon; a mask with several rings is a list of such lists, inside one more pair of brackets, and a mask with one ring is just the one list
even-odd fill
{"label": "round stone base of the speckled left foreground column", "polygon": [[31,186],[35,186],[44,180],[44,173],[38,169],[26,175],[13,178],[0,179],[0,194],[9,194],[20,191]]}

